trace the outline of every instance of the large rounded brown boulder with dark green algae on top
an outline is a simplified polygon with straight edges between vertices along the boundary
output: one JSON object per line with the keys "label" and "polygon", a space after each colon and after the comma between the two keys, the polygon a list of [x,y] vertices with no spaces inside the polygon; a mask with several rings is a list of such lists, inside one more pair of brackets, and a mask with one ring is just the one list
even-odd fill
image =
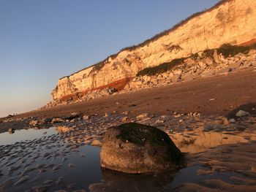
{"label": "large rounded brown boulder with dark green algae on top", "polygon": [[106,131],[100,152],[101,166],[118,172],[163,172],[185,165],[184,155],[164,131],[125,123]]}

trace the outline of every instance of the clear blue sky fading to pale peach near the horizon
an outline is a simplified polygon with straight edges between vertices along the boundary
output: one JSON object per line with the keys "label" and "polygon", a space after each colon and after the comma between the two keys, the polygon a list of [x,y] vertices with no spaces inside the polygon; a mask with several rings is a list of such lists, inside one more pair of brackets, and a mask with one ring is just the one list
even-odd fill
{"label": "clear blue sky fading to pale peach near the horizon", "polygon": [[218,0],[0,0],[0,117],[42,107],[59,78]]}

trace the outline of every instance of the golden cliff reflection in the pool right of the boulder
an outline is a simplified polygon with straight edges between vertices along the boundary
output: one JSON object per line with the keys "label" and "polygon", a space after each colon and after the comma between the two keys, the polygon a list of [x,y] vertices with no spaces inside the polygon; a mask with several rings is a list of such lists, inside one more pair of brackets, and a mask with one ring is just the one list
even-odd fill
{"label": "golden cliff reflection in the pool right of the boulder", "polygon": [[248,142],[256,140],[256,131],[254,132],[216,132],[202,131],[186,131],[178,134],[169,134],[170,138],[182,152],[200,153],[208,150],[211,147],[219,145],[235,144],[238,142]]}

